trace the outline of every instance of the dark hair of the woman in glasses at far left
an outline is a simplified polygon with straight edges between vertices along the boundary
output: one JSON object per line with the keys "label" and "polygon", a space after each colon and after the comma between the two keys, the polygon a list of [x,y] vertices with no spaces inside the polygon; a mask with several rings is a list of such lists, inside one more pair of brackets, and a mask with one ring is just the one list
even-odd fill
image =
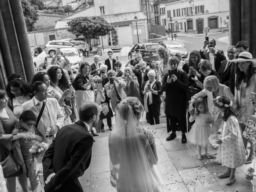
{"label": "dark hair of the woman in glasses at far left", "polygon": [[24,95],[24,96],[27,96],[28,94],[31,94],[31,89],[30,89],[30,86],[29,86],[29,84],[26,82],[26,81],[24,81],[24,80],[22,80],[22,79],[14,79],[14,80],[11,80],[8,84],[7,84],[7,86],[6,86],[6,92],[7,92],[7,96],[8,96],[8,98],[14,98],[15,97],[15,95],[14,94],[12,94],[11,93],[11,86],[12,87],[18,87],[18,88],[20,88],[20,90],[21,90],[21,93],[22,93],[22,95]]}

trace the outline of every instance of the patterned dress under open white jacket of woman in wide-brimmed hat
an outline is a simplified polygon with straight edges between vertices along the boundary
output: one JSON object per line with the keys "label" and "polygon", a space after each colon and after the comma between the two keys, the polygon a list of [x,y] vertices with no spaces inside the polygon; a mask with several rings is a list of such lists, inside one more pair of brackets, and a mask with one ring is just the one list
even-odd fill
{"label": "patterned dress under open white jacket of woman in wide-brimmed hat", "polygon": [[243,82],[241,86],[240,109],[237,118],[239,123],[244,124],[249,120],[246,106],[246,82]]}

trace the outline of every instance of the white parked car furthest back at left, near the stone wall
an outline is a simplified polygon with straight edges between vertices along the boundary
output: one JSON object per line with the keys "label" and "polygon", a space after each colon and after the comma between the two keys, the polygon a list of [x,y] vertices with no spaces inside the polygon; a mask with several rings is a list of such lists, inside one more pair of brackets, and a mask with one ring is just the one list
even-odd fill
{"label": "white parked car furthest back at left, near the stone wall", "polygon": [[44,51],[50,55],[50,57],[53,57],[57,51],[57,48],[78,48],[82,54],[84,54],[84,46],[75,45],[69,41],[62,41],[62,40],[53,40],[48,41],[44,45]]}

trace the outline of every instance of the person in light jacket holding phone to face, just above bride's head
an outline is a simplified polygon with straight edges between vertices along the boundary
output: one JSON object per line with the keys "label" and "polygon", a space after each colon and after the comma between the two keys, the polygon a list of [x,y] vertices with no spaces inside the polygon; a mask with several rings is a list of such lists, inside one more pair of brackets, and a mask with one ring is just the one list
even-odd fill
{"label": "person in light jacket holding phone to face, just above bride's head", "polygon": [[[114,70],[109,70],[107,72],[107,76],[109,82],[104,86],[108,98],[110,98],[110,103],[112,109],[115,111],[116,105],[120,103],[124,98],[126,98],[126,94],[124,92],[125,82],[122,80],[122,77],[116,77]],[[111,79],[113,80],[113,84],[110,84]]]}

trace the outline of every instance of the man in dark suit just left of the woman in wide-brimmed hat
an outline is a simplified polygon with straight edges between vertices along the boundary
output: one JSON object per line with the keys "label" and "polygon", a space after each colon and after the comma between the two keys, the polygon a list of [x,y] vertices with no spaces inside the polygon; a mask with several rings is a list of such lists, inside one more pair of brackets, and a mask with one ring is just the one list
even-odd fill
{"label": "man in dark suit just left of the woman in wide-brimmed hat", "polygon": [[[229,46],[227,53],[228,53],[228,59],[233,60],[236,57],[236,46]],[[222,84],[229,86],[232,66],[235,64],[236,63],[229,62],[227,60],[223,60],[221,62],[221,66],[220,66],[220,70],[218,71],[218,74],[220,75]]]}

